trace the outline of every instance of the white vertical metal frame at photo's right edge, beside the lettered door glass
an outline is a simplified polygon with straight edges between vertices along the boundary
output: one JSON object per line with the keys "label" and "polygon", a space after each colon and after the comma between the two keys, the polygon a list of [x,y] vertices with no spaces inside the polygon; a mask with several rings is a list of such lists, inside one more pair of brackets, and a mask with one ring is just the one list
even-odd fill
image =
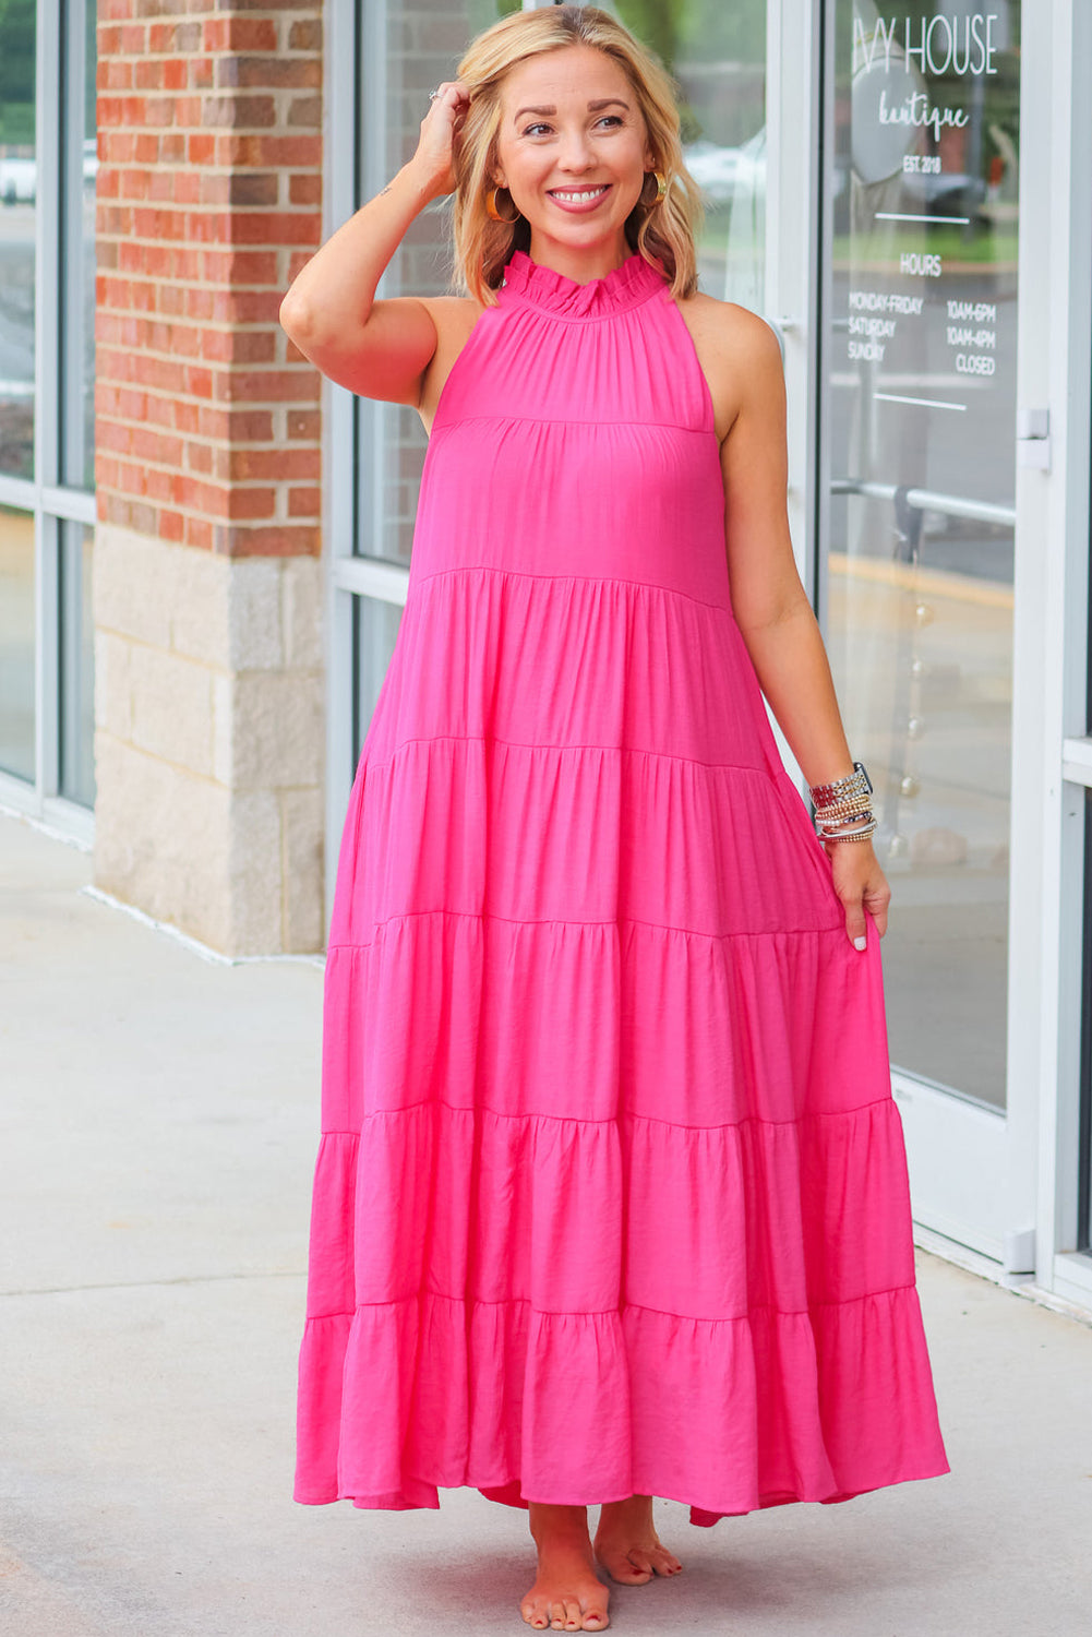
{"label": "white vertical metal frame at photo's right edge, beside the lettered door glass", "polygon": [[[1092,8],[1085,0],[1053,0],[1049,18],[1036,16],[1028,47],[1045,111],[1035,126],[1036,160],[1051,187],[1028,201],[1035,219],[1025,244],[1041,241],[1046,249],[1020,267],[1040,326],[1028,332],[1028,357],[1020,360],[1028,393],[1022,408],[1049,408],[1053,483],[1041,571],[1022,588],[1028,629],[1013,771],[1025,812],[1013,827],[1013,856],[1020,851],[1028,866],[1013,877],[1013,886],[1022,884],[1012,936],[1020,949],[1015,982],[1030,1003],[1023,1020],[1015,1020],[1010,1051],[1015,1071],[1040,1087],[1036,1130],[1027,1133],[1038,1154],[1035,1280],[1056,1297],[1092,1306],[1092,1256],[1076,1249],[1084,913],[1092,892],[1084,879],[1085,791],[1092,789],[1092,106],[1084,67],[1092,61]],[[1025,476],[1033,483],[1040,473]]]}

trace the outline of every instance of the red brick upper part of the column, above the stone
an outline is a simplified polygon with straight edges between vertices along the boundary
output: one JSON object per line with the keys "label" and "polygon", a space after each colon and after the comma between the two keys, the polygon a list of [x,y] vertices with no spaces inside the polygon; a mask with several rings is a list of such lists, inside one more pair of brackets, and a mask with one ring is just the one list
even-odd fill
{"label": "red brick upper part of the column, above the stone", "polygon": [[98,516],[318,555],[319,377],[277,321],[321,232],[321,0],[98,0]]}

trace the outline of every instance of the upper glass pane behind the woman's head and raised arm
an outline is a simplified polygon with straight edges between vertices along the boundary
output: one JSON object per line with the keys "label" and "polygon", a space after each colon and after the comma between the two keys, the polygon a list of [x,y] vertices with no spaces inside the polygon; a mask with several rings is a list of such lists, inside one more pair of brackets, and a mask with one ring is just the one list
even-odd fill
{"label": "upper glass pane behind the woman's head and raised arm", "polygon": [[[359,90],[363,126],[363,198],[378,190],[417,144],[429,92],[450,79],[467,41],[517,0],[463,0],[442,18],[434,0],[388,0],[370,10],[367,64],[383,74]],[[701,288],[761,311],[766,205],[766,0],[617,0],[614,13],[648,44],[679,85],[688,169],[706,196],[699,242]],[[444,295],[449,288],[449,201],[411,224],[380,296]],[[416,409],[360,401],[362,494],[355,550],[409,563],[427,437]]]}

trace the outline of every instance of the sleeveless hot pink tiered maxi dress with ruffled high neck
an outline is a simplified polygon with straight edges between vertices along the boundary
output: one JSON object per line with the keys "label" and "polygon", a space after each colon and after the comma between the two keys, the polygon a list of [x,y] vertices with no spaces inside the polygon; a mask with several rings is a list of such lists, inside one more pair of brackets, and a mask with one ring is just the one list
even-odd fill
{"label": "sleeveless hot pink tiered maxi dress with ruffled high neck", "polygon": [[881,949],[732,616],[660,272],[444,388],[329,933],[295,1499],[694,1524],[948,1472]]}

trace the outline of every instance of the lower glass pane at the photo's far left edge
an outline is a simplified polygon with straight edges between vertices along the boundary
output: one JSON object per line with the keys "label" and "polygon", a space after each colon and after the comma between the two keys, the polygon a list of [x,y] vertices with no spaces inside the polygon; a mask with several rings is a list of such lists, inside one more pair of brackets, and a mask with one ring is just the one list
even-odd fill
{"label": "lower glass pane at the photo's far left edge", "polygon": [[34,519],[0,506],[0,768],[34,779]]}

